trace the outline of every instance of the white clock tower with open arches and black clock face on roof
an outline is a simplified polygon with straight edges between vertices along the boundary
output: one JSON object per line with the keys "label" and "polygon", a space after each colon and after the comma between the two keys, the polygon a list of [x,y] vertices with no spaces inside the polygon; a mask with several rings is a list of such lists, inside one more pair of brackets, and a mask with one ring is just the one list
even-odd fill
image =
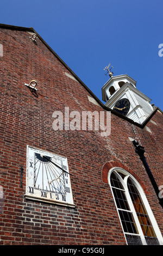
{"label": "white clock tower with open arches and black clock face on roof", "polygon": [[105,106],[142,124],[153,112],[151,99],[136,88],[136,81],[128,75],[113,76],[102,87]]}

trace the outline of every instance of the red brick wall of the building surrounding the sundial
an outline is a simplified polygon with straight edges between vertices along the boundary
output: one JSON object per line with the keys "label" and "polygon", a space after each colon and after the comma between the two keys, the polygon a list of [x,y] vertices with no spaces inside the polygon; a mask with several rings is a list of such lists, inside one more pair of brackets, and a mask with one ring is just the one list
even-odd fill
{"label": "red brick wall of the building surrounding the sundial", "polygon": [[[134,138],[158,186],[162,181],[162,114],[156,112],[146,128],[111,113],[111,134],[100,131],[54,131],[54,111],[104,111],[88,100],[82,84],[65,75],[70,71],[37,38],[26,31],[0,28],[1,164],[4,211],[0,215],[1,245],[126,245],[107,182],[105,163],[126,167],[143,187],[161,232],[162,208],[139,157]],[[37,94],[24,83],[37,81]],[[27,144],[65,156],[75,209],[26,200]],[[23,166],[22,188],[20,187]],[[102,171],[103,170],[103,171]]]}

